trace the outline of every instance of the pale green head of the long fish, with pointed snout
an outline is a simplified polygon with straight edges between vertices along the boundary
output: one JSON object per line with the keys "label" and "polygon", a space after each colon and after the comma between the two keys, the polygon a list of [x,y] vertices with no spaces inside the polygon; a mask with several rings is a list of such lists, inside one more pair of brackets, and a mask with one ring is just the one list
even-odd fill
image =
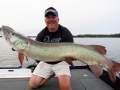
{"label": "pale green head of the long fish, with pointed snout", "polygon": [[0,32],[7,43],[11,45],[12,48],[14,48],[16,51],[21,52],[27,47],[27,37],[16,32],[12,28],[3,25]]}

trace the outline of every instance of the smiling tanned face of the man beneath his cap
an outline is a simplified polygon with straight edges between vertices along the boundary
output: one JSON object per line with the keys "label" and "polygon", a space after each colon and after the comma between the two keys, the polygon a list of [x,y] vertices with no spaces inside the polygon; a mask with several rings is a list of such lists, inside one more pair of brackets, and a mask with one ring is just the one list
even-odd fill
{"label": "smiling tanned face of the man beneath his cap", "polygon": [[59,18],[53,13],[48,13],[45,17],[45,23],[49,29],[56,29],[58,27]]}

